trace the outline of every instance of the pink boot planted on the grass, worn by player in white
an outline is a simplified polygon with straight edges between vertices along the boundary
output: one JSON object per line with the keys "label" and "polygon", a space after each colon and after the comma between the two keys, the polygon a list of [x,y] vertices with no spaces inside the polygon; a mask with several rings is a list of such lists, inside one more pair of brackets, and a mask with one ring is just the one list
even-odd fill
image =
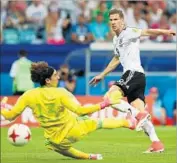
{"label": "pink boot planted on the grass, worn by player in white", "polygon": [[154,141],[152,142],[148,150],[143,153],[161,153],[163,151],[164,151],[163,143],[161,141]]}

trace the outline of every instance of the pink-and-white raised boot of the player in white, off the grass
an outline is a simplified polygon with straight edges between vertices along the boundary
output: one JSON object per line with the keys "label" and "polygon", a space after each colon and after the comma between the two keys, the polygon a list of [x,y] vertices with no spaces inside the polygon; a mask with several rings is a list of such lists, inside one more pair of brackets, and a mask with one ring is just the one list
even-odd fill
{"label": "pink-and-white raised boot of the player in white, off the grass", "polygon": [[136,131],[143,130],[142,126],[150,118],[151,118],[151,115],[146,111],[138,113],[138,115],[136,116],[136,119],[137,119]]}

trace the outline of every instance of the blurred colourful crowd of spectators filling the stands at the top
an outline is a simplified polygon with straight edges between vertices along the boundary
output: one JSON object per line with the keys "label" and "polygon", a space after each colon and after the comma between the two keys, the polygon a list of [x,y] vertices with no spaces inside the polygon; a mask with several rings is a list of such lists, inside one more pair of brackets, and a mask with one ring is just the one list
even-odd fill
{"label": "blurred colourful crowd of spectators filling the stands at the top", "polygon": [[[120,8],[127,26],[176,30],[175,0],[2,0],[1,43],[81,43],[111,41],[109,10]],[[158,36],[142,41],[176,42]]]}

